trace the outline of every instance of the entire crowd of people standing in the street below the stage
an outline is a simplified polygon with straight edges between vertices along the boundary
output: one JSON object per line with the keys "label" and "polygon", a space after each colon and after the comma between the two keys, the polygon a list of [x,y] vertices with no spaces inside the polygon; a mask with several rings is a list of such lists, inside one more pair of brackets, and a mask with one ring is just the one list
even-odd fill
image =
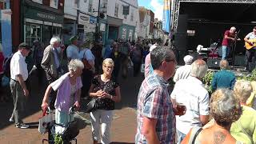
{"label": "entire crowd of people standing in the street below the stage", "polygon": [[[33,46],[22,42],[11,57],[14,110],[10,122],[16,127],[29,127],[22,122],[22,114],[30,94],[26,82],[35,65],[38,79],[42,80],[45,73],[48,82],[42,110],[55,110],[55,122],[65,126],[74,120],[73,115],[69,119],[71,106],[79,110],[81,98],[97,99],[97,108],[90,111],[92,139],[94,144],[110,143],[114,103],[122,99],[120,70],[120,76],[126,78],[128,68],[133,66],[137,77],[145,63],[145,79],[138,91],[135,143],[256,142],[256,82],[237,80],[225,59],[220,62],[221,70],[214,74],[214,93],[210,95],[202,82],[208,70],[204,60],[186,55],[185,66],[176,70],[174,52],[154,40],[109,40],[102,46],[90,40],[79,42],[74,36],[67,47],[61,42],[53,37],[45,49],[38,41]],[[31,52],[34,61],[29,66],[26,57]],[[175,84],[171,91],[172,80]]]}

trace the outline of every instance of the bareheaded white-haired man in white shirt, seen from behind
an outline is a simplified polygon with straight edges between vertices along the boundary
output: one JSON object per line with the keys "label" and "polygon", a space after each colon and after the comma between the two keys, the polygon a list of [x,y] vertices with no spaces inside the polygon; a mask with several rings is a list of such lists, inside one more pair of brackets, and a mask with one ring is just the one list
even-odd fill
{"label": "bareheaded white-haired man in white shirt, seen from behind", "polygon": [[202,78],[207,72],[206,62],[196,60],[191,65],[190,76],[176,82],[170,98],[175,109],[186,106],[186,114],[176,117],[178,143],[194,126],[204,126],[209,119],[209,94],[202,85]]}

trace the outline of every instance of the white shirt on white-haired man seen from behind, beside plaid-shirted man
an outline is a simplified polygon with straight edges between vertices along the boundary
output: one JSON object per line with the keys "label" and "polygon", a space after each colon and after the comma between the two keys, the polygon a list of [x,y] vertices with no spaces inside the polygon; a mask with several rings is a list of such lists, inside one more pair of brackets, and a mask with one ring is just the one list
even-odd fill
{"label": "white shirt on white-haired man seen from behind, beside plaid-shirted man", "polygon": [[202,126],[200,115],[209,115],[209,94],[202,82],[194,77],[176,82],[170,97],[186,106],[186,114],[176,116],[176,128],[188,134],[194,126]]}

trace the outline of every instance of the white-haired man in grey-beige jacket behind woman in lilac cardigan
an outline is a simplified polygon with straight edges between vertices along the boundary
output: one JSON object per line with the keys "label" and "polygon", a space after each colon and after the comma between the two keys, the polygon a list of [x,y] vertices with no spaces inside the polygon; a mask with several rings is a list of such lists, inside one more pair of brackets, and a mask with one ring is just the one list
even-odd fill
{"label": "white-haired man in grey-beige jacket behind woman in lilac cardigan", "polygon": [[[50,39],[50,45],[46,47],[43,52],[41,66],[46,71],[46,78],[48,83],[52,83],[57,80],[61,72],[61,62],[63,50],[58,51],[61,39],[53,37]],[[56,92],[51,91],[49,97],[50,109],[54,110],[54,102],[56,99]]]}

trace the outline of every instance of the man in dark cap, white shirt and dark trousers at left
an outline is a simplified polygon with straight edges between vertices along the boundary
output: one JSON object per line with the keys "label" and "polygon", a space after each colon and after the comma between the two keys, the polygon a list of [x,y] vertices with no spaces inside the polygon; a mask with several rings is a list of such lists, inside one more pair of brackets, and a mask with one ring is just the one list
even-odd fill
{"label": "man in dark cap, white shirt and dark trousers at left", "polygon": [[29,96],[29,90],[27,90],[25,83],[29,75],[25,58],[29,53],[30,46],[23,42],[18,46],[18,51],[10,60],[10,90],[14,98],[14,110],[9,121],[15,122],[15,126],[22,129],[29,127],[22,122],[26,97]]}

